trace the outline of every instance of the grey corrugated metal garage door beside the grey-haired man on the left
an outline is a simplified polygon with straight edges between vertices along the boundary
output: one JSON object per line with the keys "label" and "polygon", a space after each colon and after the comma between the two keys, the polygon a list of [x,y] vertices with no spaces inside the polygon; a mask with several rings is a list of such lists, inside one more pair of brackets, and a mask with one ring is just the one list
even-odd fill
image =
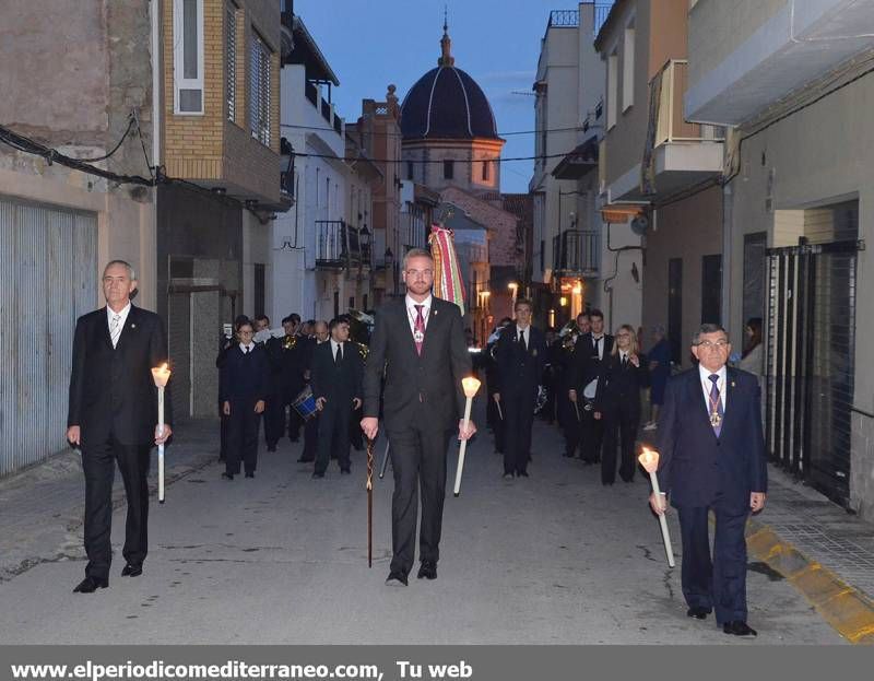
{"label": "grey corrugated metal garage door beside the grey-haired man on the left", "polygon": [[96,294],[96,214],[0,197],[0,475],[67,446],[73,330]]}

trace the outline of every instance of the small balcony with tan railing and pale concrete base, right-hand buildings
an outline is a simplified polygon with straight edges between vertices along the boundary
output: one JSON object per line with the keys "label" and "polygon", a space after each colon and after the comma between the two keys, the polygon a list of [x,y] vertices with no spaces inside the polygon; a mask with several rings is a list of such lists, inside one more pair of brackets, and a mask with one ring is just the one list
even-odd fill
{"label": "small balcony with tan railing and pale concrete base, right-hand buildings", "polygon": [[650,120],[643,152],[641,191],[670,196],[722,172],[724,129],[688,122],[683,95],[688,62],[671,59],[650,81]]}

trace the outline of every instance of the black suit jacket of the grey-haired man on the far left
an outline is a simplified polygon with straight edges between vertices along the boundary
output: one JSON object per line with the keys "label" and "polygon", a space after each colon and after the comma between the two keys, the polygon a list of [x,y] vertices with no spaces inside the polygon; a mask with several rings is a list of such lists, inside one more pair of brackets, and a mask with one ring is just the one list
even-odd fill
{"label": "black suit jacket of the grey-haired man on the far left", "polygon": [[[83,446],[104,442],[110,433],[126,446],[154,442],[157,388],[152,367],[164,362],[167,340],[156,314],[131,305],[115,349],[106,307],[79,318],[67,425],[81,427]],[[164,391],[164,422],[172,425],[169,388]]]}

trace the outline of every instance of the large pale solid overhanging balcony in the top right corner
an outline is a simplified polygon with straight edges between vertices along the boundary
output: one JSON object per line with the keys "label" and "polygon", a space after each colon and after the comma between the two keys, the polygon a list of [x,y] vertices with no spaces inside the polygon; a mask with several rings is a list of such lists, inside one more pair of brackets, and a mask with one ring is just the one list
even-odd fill
{"label": "large pale solid overhanging balcony in the top right corner", "polygon": [[698,0],[689,11],[688,120],[755,118],[871,49],[874,12],[854,0]]}

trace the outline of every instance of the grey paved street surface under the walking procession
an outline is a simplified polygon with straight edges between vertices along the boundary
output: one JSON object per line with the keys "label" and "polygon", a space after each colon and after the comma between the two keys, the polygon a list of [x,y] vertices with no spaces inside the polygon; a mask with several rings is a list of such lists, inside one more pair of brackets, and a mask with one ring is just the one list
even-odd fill
{"label": "grey paved street surface under the walking procession", "polygon": [[[109,588],[82,578],[83,481],[74,455],[0,484],[0,641],[243,644],[815,644],[842,638],[794,587],[751,564],[755,641],[686,617],[648,483],[603,488],[599,470],[560,456],[535,424],[531,478],[501,479],[492,439],[468,450],[462,495],[446,500],[438,579],[383,585],[392,483],[376,481],[367,568],[365,456],[323,480],[284,441],[255,480],[220,478],[217,426],[179,428],[167,503],[151,507],[142,577],[121,578],[123,506],[114,517]],[[378,446],[378,456],[382,453]],[[456,455],[450,455],[449,480]],[[117,485],[120,481],[117,480]],[[767,523],[767,510],[761,517]]]}

